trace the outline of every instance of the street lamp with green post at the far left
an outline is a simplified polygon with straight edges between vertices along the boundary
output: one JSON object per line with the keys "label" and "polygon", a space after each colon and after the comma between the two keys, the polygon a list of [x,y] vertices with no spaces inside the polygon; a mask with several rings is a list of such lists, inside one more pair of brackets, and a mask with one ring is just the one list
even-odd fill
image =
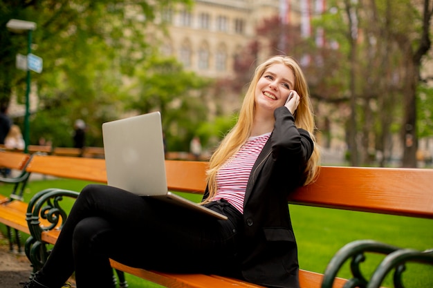
{"label": "street lamp with green post at the far left", "polygon": [[[10,19],[6,23],[6,27],[11,32],[22,33],[28,32],[28,46],[27,55],[32,53],[32,32],[36,29],[36,23],[18,19]],[[26,79],[26,114],[24,115],[24,153],[28,153],[28,144],[30,142],[30,69],[27,67],[27,79]]]}

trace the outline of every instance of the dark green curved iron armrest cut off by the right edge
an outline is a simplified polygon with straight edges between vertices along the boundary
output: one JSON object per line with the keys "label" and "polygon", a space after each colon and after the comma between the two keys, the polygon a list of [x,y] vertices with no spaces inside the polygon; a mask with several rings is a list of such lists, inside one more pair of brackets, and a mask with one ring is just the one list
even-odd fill
{"label": "dark green curved iron armrest cut off by the right edge", "polygon": [[413,249],[400,249],[389,253],[380,265],[374,271],[373,276],[367,288],[378,288],[382,284],[383,280],[392,269],[394,271],[394,287],[403,287],[401,281],[401,274],[405,271],[406,262],[419,262],[433,265],[433,250],[427,251],[416,251]]}

